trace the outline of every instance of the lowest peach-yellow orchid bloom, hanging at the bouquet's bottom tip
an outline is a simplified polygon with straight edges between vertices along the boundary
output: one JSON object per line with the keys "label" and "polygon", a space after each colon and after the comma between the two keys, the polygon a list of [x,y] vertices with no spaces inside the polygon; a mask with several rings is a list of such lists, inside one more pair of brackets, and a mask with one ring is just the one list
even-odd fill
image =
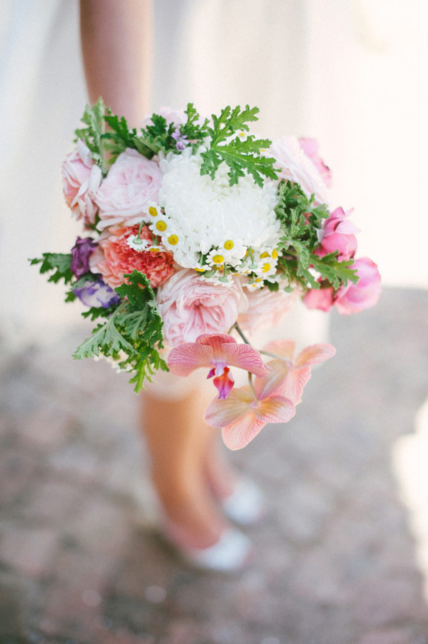
{"label": "lowest peach-yellow orchid bloom, hanging at the bouquet's bottom tip", "polygon": [[[267,376],[268,377],[268,376]],[[231,450],[239,450],[258,435],[266,423],[287,423],[295,415],[295,406],[283,396],[256,396],[250,387],[233,389],[226,400],[215,398],[205,409],[208,425],[222,430],[223,441]]]}

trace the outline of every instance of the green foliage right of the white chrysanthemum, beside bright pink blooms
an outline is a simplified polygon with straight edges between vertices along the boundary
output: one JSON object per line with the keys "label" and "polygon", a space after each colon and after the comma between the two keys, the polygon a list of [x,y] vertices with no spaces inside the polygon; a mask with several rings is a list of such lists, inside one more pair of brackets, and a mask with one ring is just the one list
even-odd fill
{"label": "green foliage right of the white chrysanthemum, beside bright pink blooms", "polygon": [[337,251],[324,257],[314,253],[320,245],[317,233],[322,229],[322,221],[329,216],[327,206],[315,205],[314,196],[307,198],[302,188],[291,181],[281,181],[278,190],[275,212],[281,222],[282,236],[277,266],[282,278],[287,280],[286,288],[291,289],[296,283],[305,289],[320,288],[314,270],[335,289],[346,285],[348,280],[357,283],[352,259],[339,261]]}

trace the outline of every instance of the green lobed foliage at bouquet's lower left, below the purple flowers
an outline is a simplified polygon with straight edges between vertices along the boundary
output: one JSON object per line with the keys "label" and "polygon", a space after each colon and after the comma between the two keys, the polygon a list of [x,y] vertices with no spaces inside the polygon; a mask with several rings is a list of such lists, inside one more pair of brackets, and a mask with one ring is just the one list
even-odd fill
{"label": "green lobed foliage at bouquet's lower left, below the purple flowers", "polygon": [[150,282],[139,271],[126,277],[128,283],[116,288],[121,304],[76,348],[73,358],[111,356],[119,368],[133,373],[130,382],[138,393],[145,379],[151,381],[159,368],[168,371],[168,367],[159,353],[163,347],[163,322]]}

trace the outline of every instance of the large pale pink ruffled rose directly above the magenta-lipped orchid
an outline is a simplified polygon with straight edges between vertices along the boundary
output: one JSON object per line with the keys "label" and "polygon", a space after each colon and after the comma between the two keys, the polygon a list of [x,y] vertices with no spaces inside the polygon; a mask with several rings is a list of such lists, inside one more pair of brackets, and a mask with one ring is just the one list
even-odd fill
{"label": "large pale pink ruffled rose directly above the magenta-lipped orchid", "polygon": [[248,307],[238,280],[218,286],[187,268],[159,288],[157,300],[165,340],[173,347],[195,342],[203,333],[228,333]]}

